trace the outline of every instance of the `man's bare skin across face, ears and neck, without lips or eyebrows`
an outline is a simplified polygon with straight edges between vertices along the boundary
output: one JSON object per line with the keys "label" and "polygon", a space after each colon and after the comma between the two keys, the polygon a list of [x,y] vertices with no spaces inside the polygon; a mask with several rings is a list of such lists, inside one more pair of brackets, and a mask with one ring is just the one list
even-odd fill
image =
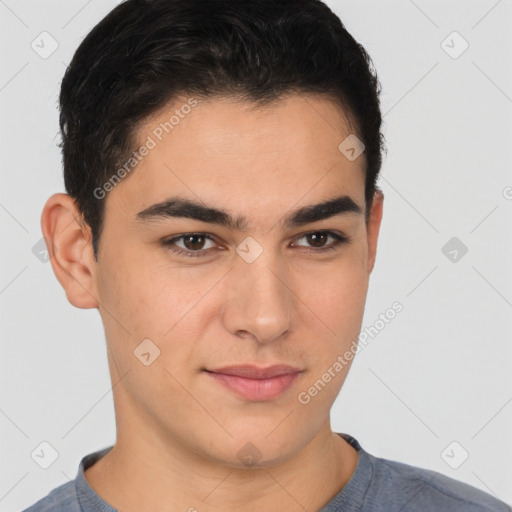
{"label": "man's bare skin across face, ears and neck, without lips or eyebrows", "polygon": [[[185,102],[146,120],[138,140]],[[364,211],[364,153],[350,161],[338,149],[349,133],[341,108],[323,96],[293,94],[258,110],[232,98],[200,102],[103,199],[97,262],[73,200],[47,201],[41,225],[58,248],[55,275],[71,304],[97,308],[105,328],[117,440],[85,476],[115,508],[313,511],[350,479],[357,452],[329,418],[350,365],[307,405],[297,397],[360,332],[383,195],[368,223],[358,213],[294,229],[280,222],[342,194]],[[136,220],[176,195],[243,215],[248,229]],[[320,230],[351,240],[314,252],[333,242],[305,236]],[[200,249],[209,255],[187,258],[161,244],[191,232],[214,238]],[[252,263],[236,252],[247,236],[263,248]],[[146,338],[161,351],[149,366],[134,356]],[[266,402],[240,398],[202,371],[243,363],[303,371]],[[252,467],[237,457],[248,442],[261,457]]]}

